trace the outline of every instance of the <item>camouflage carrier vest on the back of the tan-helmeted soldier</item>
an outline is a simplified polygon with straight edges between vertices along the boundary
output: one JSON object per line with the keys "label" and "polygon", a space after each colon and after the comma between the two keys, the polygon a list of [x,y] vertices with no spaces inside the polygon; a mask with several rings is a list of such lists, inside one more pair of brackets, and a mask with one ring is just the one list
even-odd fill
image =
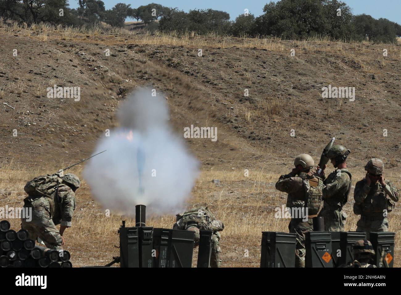
{"label": "camouflage carrier vest on the back of the tan-helmeted soldier", "polygon": [[316,215],[322,204],[324,184],[319,177],[303,179],[305,189],[305,208],[308,208],[308,215]]}

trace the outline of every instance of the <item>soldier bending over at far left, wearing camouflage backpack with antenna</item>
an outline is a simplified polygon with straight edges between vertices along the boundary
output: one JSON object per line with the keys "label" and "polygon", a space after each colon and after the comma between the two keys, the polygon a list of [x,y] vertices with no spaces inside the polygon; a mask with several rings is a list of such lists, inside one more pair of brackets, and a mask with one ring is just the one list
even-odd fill
{"label": "soldier bending over at far left, wearing camouflage backpack with antenna", "polygon": [[[79,178],[71,173],[62,178],[59,175],[36,177],[26,183],[24,189],[28,197],[24,207],[32,208],[32,220],[22,218],[22,228],[29,238],[40,238],[47,248],[60,250],[64,246],[63,233],[71,227],[75,209],[75,191],[79,188]],[[56,225],[60,224],[60,230]]]}

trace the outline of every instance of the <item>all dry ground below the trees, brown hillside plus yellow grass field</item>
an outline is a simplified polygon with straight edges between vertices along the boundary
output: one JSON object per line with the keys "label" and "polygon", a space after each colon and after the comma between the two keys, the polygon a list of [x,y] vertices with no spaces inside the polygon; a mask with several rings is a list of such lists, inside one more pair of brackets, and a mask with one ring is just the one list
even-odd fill
{"label": "all dry ground below the trees, brown hillside plus yellow grass field", "polygon": [[[136,35],[124,29],[46,24],[2,24],[0,38],[1,207],[22,206],[24,184],[34,176],[89,157],[103,131],[116,126],[119,103],[143,85],[164,93],[177,133],[190,124],[218,127],[217,142],[186,139],[202,163],[186,205],[208,205],[223,220],[223,267],[258,267],[261,232],[288,231],[289,220],[274,218],[274,208],[285,205],[287,197],[275,190],[275,182],[300,153],[310,153],[317,162],[331,136],[352,150],[347,230],[356,228],[353,189],[365,176],[363,166],[370,157],[382,158],[385,177],[401,188],[400,45]],[[15,48],[18,56],[12,57]],[[106,49],[111,56],[105,56]],[[203,49],[202,57],[198,49]],[[48,99],[46,87],[55,83],[81,86],[81,102]],[[330,83],[356,87],[356,101],[323,99],[321,87]],[[82,169],[71,172],[81,176]],[[121,220],[128,225],[134,221],[111,213],[105,216],[83,179],[73,227],[65,232],[74,266],[105,265],[118,255]],[[19,220],[10,221],[19,228]],[[174,215],[148,216],[147,224],[170,228],[174,221]],[[390,214],[390,230],[397,232],[397,267],[400,221],[397,204]]]}

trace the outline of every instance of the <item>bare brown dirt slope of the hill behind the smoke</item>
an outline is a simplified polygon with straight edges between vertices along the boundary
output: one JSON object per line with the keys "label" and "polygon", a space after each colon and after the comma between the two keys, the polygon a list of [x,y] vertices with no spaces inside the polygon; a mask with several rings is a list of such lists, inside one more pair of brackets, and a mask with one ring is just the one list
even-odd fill
{"label": "bare brown dirt slope of the hill behind the smoke", "polygon": [[[16,110],[4,106],[2,132],[8,138],[9,127],[22,133],[6,146],[17,148],[19,155],[26,153],[26,145],[31,145],[28,153],[34,158],[43,155],[46,144],[55,149],[64,143],[65,151],[78,148],[81,153],[80,148],[90,149],[88,142],[113,125],[113,110],[121,96],[137,85],[154,85],[168,96],[178,130],[203,121],[207,126],[219,123],[219,136],[229,132],[227,140],[234,146],[223,140],[211,145],[226,160],[234,159],[230,151],[237,141],[283,157],[300,149],[318,155],[324,142],[337,136],[338,142],[352,149],[350,159],[356,162],[377,155],[391,166],[398,165],[400,47],[393,46],[381,68],[383,45],[344,44],[347,48],[337,52],[330,44],[302,50],[283,42],[282,51],[205,48],[203,57],[198,57],[196,48],[133,42],[107,46],[112,56],[105,57],[101,44],[38,42],[13,35],[4,40],[2,101]],[[292,47],[295,57],[286,51]],[[18,57],[10,58],[14,48]],[[45,88],[53,84],[80,86],[81,101],[48,99]],[[355,87],[355,101],[322,98],[321,88],[328,84]],[[243,95],[246,89],[248,97]],[[291,129],[296,136],[290,136]],[[66,133],[64,138],[55,136],[59,130]],[[227,144],[227,149],[222,151],[221,144]],[[251,161],[249,156],[246,161]]]}

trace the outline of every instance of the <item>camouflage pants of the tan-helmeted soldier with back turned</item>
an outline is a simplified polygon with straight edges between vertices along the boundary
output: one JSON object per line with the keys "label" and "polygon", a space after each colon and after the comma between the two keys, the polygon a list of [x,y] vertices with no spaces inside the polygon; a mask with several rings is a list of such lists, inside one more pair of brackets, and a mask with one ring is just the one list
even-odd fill
{"label": "camouflage pants of the tan-helmeted soldier with back turned", "polygon": [[305,267],[305,235],[307,232],[313,231],[312,218],[308,219],[308,221],[293,218],[288,225],[288,229],[290,233],[297,235],[295,267]]}

